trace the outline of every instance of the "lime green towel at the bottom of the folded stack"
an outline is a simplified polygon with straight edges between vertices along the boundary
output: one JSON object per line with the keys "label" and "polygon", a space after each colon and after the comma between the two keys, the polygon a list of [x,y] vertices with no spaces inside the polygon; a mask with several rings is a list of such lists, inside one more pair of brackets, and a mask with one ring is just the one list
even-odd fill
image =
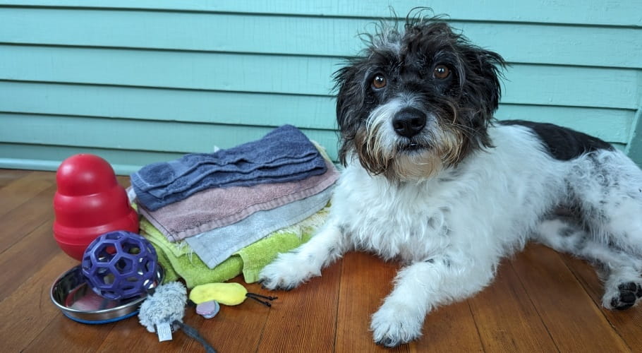
{"label": "lime green towel at the bottom of the folded stack", "polygon": [[165,281],[182,277],[188,288],[207,283],[224,282],[243,273],[247,283],[258,280],[258,275],[279,253],[290,251],[315,234],[325,222],[329,205],[307,219],[272,232],[234,253],[215,268],[207,268],[184,241],[169,242],[145,217],[140,218],[140,233],[147,238],[158,253],[158,261],[165,269]]}

